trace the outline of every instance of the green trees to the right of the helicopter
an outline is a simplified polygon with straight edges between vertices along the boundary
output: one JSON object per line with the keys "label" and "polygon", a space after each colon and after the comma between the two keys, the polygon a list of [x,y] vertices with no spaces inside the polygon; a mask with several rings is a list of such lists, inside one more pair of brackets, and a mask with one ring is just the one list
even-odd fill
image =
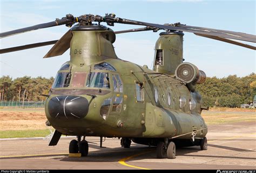
{"label": "green trees to the right of the helicopter", "polygon": [[240,107],[250,104],[256,95],[256,75],[254,73],[237,77],[207,77],[205,83],[196,85],[203,98],[203,104],[210,107]]}

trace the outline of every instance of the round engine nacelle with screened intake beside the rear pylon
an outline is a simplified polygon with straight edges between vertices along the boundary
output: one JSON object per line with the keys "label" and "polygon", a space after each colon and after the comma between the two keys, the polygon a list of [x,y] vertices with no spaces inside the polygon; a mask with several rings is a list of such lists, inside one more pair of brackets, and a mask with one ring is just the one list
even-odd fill
{"label": "round engine nacelle with screened intake beside the rear pylon", "polygon": [[175,76],[177,79],[190,84],[201,84],[206,80],[204,71],[199,70],[197,66],[189,62],[179,64],[175,70]]}

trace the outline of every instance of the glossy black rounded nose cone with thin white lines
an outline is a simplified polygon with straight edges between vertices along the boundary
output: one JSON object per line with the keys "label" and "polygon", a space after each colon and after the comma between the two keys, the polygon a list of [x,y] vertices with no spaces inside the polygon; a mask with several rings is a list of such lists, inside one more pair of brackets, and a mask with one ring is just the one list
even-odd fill
{"label": "glossy black rounded nose cone with thin white lines", "polygon": [[88,113],[89,102],[82,96],[56,96],[50,99],[48,110],[52,118],[80,119]]}

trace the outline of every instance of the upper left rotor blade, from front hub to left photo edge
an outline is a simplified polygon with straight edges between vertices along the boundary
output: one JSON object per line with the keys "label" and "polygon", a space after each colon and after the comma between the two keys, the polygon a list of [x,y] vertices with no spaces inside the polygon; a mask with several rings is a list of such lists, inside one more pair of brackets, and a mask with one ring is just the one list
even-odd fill
{"label": "upper left rotor blade, from front hub to left photo edge", "polygon": [[8,37],[8,36],[19,34],[19,33],[28,32],[28,31],[38,30],[38,29],[42,29],[42,28],[46,28],[46,27],[58,26],[58,25],[66,24],[66,25],[72,26],[72,24],[76,23],[77,21],[78,21],[77,17],[74,18],[72,15],[69,15],[68,18],[64,17],[62,19],[56,19],[55,21],[50,21],[49,23],[43,23],[43,24],[38,24],[38,25],[34,25],[34,26],[24,27],[24,28],[21,28],[18,30],[2,32],[2,33],[0,33],[0,38]]}

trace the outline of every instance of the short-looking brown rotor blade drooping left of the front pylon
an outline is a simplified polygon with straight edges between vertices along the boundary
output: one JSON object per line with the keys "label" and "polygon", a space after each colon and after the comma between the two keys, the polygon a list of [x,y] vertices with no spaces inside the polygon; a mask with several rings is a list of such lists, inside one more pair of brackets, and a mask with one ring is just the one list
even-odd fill
{"label": "short-looking brown rotor blade drooping left of the front pylon", "polygon": [[60,38],[56,44],[50,49],[50,51],[44,56],[44,58],[62,55],[70,48],[70,41],[72,39],[72,32],[69,30],[62,38]]}

